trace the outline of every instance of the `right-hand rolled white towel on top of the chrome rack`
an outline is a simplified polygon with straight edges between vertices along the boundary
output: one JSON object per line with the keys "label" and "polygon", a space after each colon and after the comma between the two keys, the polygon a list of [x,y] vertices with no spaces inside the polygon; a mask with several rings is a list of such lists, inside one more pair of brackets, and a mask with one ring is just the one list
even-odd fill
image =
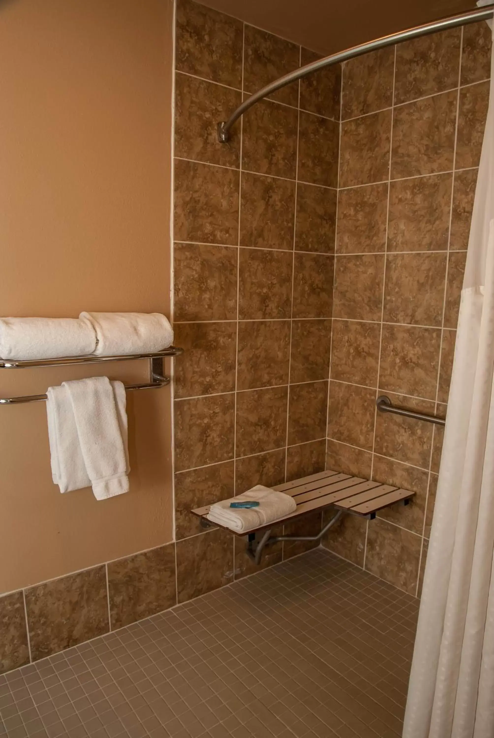
{"label": "right-hand rolled white towel on top of the chrome rack", "polygon": [[174,331],[160,313],[81,313],[96,337],[97,356],[162,351],[174,342]]}

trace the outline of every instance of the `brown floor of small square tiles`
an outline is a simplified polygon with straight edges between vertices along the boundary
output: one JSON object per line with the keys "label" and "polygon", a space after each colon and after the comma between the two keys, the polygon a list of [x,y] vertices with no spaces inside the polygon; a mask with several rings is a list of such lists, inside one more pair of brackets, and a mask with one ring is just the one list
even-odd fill
{"label": "brown floor of small square tiles", "polygon": [[397,737],[418,605],[317,548],[0,676],[0,735]]}

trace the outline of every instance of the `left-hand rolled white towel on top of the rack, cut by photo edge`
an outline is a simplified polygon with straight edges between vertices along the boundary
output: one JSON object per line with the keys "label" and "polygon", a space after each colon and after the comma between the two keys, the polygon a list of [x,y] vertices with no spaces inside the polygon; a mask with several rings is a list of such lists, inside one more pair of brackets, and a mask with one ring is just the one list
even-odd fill
{"label": "left-hand rolled white towel on top of the rack, cut by photo edge", "polygon": [[84,356],[96,348],[89,320],[0,318],[0,356],[12,361]]}

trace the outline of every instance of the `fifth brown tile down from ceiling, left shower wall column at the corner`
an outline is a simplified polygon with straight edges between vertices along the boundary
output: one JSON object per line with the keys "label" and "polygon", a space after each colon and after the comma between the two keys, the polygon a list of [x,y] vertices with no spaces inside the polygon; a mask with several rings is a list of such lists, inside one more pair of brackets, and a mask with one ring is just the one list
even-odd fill
{"label": "fifth brown tile down from ceiling, left shower wall column at the corner", "polygon": [[290,382],[328,379],[331,320],[293,320]]}

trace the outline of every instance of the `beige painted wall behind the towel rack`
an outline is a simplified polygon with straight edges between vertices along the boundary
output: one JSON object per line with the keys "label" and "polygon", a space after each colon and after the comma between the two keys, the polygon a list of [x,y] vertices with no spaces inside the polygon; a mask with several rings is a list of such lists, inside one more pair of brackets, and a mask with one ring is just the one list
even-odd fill
{"label": "beige painted wall behind the towel rack", "polygon": [[[0,0],[0,315],[170,311],[171,0]],[[4,370],[2,395],[146,362]],[[131,491],[51,480],[44,403],[0,409],[0,593],[168,542],[170,390],[128,393]]]}

